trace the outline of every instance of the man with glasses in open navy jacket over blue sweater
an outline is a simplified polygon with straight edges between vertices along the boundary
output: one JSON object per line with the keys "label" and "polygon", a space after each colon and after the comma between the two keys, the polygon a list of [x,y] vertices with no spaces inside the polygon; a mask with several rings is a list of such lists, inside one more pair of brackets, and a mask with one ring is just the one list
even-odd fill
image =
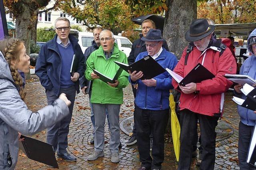
{"label": "man with glasses in open navy jacket over blue sweater", "polygon": [[[79,77],[85,70],[84,55],[78,40],[70,33],[70,22],[65,17],[57,18],[55,23],[57,35],[42,45],[36,62],[36,75],[46,90],[47,102],[51,105],[61,93],[65,93],[71,105],[70,114],[59,123],[47,129],[47,143],[52,144],[57,156],[68,161],[76,161],[74,156],[68,154],[68,132],[76,92],[79,93]],[[78,61],[75,73],[70,74],[74,54]],[[74,62],[76,63],[76,62]]]}

